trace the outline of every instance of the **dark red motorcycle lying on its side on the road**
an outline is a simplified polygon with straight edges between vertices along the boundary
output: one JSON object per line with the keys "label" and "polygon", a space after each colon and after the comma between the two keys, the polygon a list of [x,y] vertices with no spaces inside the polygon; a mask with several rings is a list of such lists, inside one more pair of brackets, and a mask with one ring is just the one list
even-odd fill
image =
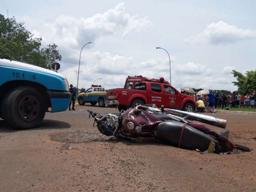
{"label": "dark red motorcycle lying on its side on the road", "polygon": [[137,106],[119,114],[101,116],[90,110],[89,118],[94,118],[98,130],[106,136],[117,139],[138,137],[156,138],[166,144],[188,149],[214,153],[230,153],[234,144],[228,140],[229,130],[218,133],[199,121],[226,128],[227,121],[212,116],[184,112],[156,106]]}

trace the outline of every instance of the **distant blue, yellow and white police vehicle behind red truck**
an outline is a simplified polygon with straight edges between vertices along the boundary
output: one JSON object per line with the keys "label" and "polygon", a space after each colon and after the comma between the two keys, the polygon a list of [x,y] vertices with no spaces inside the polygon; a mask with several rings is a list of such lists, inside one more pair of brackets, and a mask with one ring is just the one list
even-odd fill
{"label": "distant blue, yellow and white police vehicle behind red truck", "polygon": [[78,94],[78,104],[84,105],[90,103],[92,106],[99,104],[100,107],[105,106],[107,92],[101,85],[92,85],[84,93]]}

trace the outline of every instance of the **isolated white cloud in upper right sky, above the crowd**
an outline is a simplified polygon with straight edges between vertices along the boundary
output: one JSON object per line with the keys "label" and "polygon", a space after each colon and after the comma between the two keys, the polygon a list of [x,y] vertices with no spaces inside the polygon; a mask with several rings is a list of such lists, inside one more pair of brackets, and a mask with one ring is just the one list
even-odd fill
{"label": "isolated white cloud in upper right sky, above the crowd", "polygon": [[225,45],[252,38],[256,38],[256,30],[241,29],[234,25],[219,21],[207,25],[202,33],[185,39],[185,42],[190,44]]}

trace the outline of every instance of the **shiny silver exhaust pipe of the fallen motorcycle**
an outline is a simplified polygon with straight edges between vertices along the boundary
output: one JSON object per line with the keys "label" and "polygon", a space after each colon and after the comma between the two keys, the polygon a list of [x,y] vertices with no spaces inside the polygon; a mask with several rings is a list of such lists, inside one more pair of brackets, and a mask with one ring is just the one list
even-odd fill
{"label": "shiny silver exhaust pipe of the fallen motorcycle", "polygon": [[186,117],[188,120],[194,120],[199,121],[202,123],[206,123],[209,125],[213,125],[220,128],[226,128],[227,120],[226,119],[219,119],[215,118],[213,116],[198,114],[198,113],[192,113],[192,112],[186,112],[176,109],[166,109],[164,112],[170,113],[172,115],[180,116],[180,117]]}

